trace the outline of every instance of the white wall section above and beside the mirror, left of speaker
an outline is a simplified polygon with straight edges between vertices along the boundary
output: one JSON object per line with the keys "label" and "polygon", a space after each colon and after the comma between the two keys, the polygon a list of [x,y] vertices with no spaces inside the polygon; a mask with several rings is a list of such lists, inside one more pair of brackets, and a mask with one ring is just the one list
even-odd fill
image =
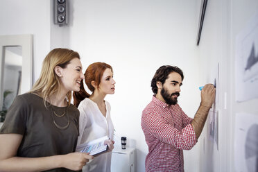
{"label": "white wall section above and beside the mirror, left of speaker", "polygon": [[50,49],[52,1],[1,0],[0,35],[33,34],[34,81],[40,76],[42,61]]}

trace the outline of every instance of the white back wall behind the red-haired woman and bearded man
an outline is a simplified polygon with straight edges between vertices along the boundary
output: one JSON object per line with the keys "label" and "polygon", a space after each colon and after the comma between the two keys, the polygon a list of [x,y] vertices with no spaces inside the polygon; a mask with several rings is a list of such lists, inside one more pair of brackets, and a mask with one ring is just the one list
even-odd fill
{"label": "white back wall behind the red-haired woman and bearded man", "polygon": [[[179,102],[190,117],[200,103],[196,1],[76,0],[70,8],[74,9],[71,49],[80,53],[83,70],[97,61],[114,68],[116,93],[106,98],[112,105],[114,127],[119,137],[135,141],[137,171],[144,171],[148,148],[141,112],[151,101],[150,80],[158,67],[177,65],[184,71]],[[193,155],[190,151],[186,156]],[[196,154],[186,160],[186,171],[198,171]]]}

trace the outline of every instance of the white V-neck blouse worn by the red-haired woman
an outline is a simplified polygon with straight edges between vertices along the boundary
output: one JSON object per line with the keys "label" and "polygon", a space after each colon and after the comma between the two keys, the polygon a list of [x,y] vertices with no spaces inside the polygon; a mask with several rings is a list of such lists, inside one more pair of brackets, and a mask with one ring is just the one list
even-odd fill
{"label": "white V-neck blouse worn by the red-haired woman", "polygon": [[[114,126],[110,117],[110,103],[105,101],[106,115],[105,117],[98,108],[98,105],[89,98],[85,98],[80,102],[78,110],[80,111],[80,136],[77,145],[92,141],[107,135],[113,139]],[[103,153],[94,157],[83,166],[85,171],[110,171],[111,152]]]}

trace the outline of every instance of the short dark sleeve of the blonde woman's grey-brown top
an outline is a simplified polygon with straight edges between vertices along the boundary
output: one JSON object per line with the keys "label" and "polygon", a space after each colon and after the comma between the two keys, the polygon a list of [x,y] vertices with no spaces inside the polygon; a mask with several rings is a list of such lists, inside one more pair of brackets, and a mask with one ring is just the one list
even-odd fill
{"label": "short dark sleeve of the blonde woman's grey-brown top", "polygon": [[28,105],[22,96],[17,96],[8,109],[6,119],[0,129],[1,134],[20,134],[26,132],[26,119],[28,114]]}

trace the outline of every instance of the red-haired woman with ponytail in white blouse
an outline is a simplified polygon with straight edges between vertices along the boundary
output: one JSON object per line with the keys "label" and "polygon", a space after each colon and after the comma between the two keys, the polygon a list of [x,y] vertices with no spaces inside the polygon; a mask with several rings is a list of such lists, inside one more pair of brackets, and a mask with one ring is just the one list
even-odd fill
{"label": "red-haired woman with ponytail in white blouse", "polygon": [[[107,94],[114,94],[113,70],[105,62],[94,62],[85,71],[85,83],[92,94],[85,91],[83,82],[80,92],[74,92],[74,105],[80,111],[80,136],[78,144],[107,135],[107,145],[112,150],[114,126],[110,117],[110,103],[104,100]],[[83,171],[110,171],[111,152],[103,153],[83,167]]]}

